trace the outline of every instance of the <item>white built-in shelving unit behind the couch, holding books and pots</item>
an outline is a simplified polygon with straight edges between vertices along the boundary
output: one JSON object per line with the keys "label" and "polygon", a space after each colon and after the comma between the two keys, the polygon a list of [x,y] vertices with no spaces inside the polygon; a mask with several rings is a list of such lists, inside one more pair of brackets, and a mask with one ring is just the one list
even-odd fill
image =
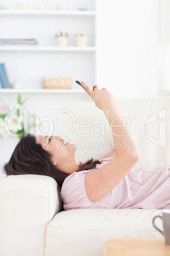
{"label": "white built-in shelving unit behind the couch, holding books and pots", "polygon": [[[13,8],[0,10],[1,24],[3,24],[0,26],[1,38],[34,38],[38,41],[38,45],[0,45],[0,62],[6,64],[11,83],[22,83],[24,93],[40,92],[41,94],[43,93],[42,77],[47,75],[71,76],[72,89],[67,93],[77,93],[80,90],[76,90],[75,80],[95,83],[96,1],[84,2],[89,4],[86,11],[73,9],[76,3],[77,6],[79,5],[78,0],[73,4],[70,1],[70,10],[67,11],[14,10]],[[55,34],[58,31],[68,32],[67,46],[56,46]],[[88,46],[76,46],[75,33],[78,31],[89,34]],[[7,92],[13,93],[13,89],[0,90],[0,94]],[[53,89],[46,92],[60,93],[59,90]],[[80,92],[82,93],[82,90]]]}

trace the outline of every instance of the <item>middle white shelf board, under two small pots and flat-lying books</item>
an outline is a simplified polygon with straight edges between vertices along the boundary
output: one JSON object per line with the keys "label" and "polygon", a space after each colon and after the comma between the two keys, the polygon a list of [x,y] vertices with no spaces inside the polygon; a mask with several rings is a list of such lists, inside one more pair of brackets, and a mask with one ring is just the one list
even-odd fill
{"label": "middle white shelf board, under two small pots and flat-lying books", "polygon": [[37,45],[29,45],[29,46],[0,46],[1,52],[95,52],[96,47],[86,46],[86,47],[78,47],[78,46],[37,46]]}

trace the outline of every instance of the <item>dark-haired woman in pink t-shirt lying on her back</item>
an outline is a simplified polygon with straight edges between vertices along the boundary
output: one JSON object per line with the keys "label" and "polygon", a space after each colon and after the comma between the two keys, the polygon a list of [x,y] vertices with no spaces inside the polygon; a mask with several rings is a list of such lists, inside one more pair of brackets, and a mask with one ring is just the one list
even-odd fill
{"label": "dark-haired woman in pink t-shirt lying on her back", "polygon": [[[39,174],[54,178],[61,188],[65,210],[78,208],[170,208],[170,167],[132,168],[138,161],[136,148],[121,148],[133,143],[122,125],[115,99],[106,89],[84,90],[107,117],[115,148],[100,160],[75,162],[76,146],[60,136],[24,136],[4,166],[5,173]],[[114,126],[112,126],[114,120]],[[115,135],[116,134],[116,135]]]}

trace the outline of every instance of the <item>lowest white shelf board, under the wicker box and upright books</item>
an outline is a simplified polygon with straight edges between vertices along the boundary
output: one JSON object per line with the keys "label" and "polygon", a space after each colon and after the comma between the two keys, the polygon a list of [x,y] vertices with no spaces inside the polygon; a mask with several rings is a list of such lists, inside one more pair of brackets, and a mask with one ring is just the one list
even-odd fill
{"label": "lowest white shelf board, under the wicker box and upright books", "polygon": [[0,89],[1,94],[86,94],[82,89]]}

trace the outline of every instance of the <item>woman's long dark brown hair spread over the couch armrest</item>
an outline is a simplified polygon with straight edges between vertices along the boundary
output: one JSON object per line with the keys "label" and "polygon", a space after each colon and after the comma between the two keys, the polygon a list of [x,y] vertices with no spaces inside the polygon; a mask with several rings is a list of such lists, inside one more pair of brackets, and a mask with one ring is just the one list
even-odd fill
{"label": "woman's long dark brown hair spread over the couch armrest", "polygon": [[[96,164],[100,164],[100,161],[91,158],[81,164],[78,171],[93,169]],[[20,139],[9,162],[4,165],[4,173],[7,176],[20,174],[49,176],[56,180],[60,188],[65,178],[70,175],[60,171],[52,164],[51,154],[44,150],[31,134]]]}

